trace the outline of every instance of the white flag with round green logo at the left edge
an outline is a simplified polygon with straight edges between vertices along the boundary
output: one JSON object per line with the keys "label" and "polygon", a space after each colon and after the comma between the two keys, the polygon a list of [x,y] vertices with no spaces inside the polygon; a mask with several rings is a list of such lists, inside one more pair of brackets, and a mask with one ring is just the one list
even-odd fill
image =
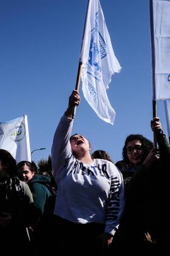
{"label": "white flag with round green logo at the left edge", "polygon": [[31,162],[27,116],[0,122],[0,148],[12,154],[16,162]]}

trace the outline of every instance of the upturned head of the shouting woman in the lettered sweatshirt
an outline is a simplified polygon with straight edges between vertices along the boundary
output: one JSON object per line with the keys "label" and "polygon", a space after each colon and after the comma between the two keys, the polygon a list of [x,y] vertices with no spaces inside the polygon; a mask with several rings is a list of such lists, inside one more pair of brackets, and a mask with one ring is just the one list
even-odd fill
{"label": "upturned head of the shouting woman in the lettered sweatshirt", "polygon": [[90,151],[89,141],[83,135],[78,133],[75,133],[70,137],[70,144],[75,157],[80,157]]}

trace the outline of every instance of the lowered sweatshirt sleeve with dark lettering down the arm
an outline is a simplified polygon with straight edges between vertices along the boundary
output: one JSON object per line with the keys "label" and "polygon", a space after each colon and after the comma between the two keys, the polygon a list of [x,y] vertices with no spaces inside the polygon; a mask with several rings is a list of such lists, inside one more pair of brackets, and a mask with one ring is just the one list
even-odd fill
{"label": "lowered sweatshirt sleeve with dark lettering down the arm", "polygon": [[106,226],[104,232],[114,235],[124,210],[123,177],[117,170],[117,175],[111,177],[110,193],[106,210]]}

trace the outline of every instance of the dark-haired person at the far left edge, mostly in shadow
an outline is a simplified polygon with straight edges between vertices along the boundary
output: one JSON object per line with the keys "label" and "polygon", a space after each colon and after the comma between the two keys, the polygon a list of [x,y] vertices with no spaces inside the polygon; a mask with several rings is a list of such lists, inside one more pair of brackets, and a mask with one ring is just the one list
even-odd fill
{"label": "dark-haired person at the far left edge, mostly in shadow", "polygon": [[[29,186],[17,177],[16,161],[0,149],[0,241],[1,254],[22,255],[27,247],[29,231],[34,224],[36,208]],[[36,220],[35,220],[36,221]]]}

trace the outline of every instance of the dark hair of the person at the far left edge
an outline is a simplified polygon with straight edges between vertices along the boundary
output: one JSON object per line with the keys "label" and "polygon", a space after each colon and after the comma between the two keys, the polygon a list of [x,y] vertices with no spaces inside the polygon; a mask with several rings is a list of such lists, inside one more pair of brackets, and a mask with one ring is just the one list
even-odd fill
{"label": "dark hair of the person at the far left edge", "polygon": [[7,170],[10,177],[17,175],[16,160],[8,151],[0,149],[0,160],[2,166]]}

